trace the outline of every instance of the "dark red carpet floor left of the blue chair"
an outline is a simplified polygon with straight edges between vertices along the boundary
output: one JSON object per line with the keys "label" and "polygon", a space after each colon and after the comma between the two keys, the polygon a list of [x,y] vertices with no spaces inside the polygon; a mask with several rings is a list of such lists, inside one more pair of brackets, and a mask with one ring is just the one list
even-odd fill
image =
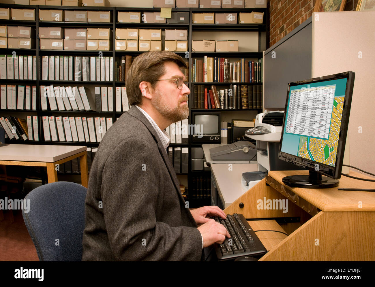
{"label": "dark red carpet floor left of the blue chair", "polygon": [[13,223],[10,223],[9,211],[0,221],[0,261],[39,261],[20,210],[14,215]]}

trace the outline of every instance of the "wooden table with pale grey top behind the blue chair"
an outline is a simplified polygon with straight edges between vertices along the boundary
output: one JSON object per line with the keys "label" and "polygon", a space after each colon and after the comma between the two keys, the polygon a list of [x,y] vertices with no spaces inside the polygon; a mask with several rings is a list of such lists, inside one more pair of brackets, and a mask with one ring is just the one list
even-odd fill
{"label": "wooden table with pale grey top behind the blue chair", "polygon": [[46,166],[48,183],[57,181],[57,165],[80,158],[81,182],[87,188],[86,146],[76,145],[1,145],[0,164],[18,166]]}

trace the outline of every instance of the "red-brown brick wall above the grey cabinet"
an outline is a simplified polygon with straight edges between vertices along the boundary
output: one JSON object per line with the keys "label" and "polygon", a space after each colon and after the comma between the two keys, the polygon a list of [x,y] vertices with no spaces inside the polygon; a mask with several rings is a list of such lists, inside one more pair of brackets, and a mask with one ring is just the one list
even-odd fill
{"label": "red-brown brick wall above the grey cabinet", "polygon": [[[312,16],[316,0],[268,0],[269,47]],[[347,0],[345,11],[356,10],[358,0]]]}

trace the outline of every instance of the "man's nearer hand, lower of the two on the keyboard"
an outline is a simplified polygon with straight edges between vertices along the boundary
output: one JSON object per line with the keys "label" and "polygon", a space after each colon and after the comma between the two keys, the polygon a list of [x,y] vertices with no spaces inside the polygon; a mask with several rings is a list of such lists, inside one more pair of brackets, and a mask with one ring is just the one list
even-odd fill
{"label": "man's nearer hand, lower of the two on the keyboard", "polygon": [[231,237],[228,230],[213,219],[207,218],[207,222],[198,227],[199,232],[203,238],[203,247],[210,246],[212,244],[220,243],[222,244],[226,237]]}

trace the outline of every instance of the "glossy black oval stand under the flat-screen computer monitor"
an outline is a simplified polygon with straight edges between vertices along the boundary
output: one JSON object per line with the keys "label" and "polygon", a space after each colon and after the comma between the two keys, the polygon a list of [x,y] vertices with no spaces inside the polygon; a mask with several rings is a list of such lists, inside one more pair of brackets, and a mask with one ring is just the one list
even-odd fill
{"label": "glossy black oval stand under the flat-screen computer monitor", "polygon": [[291,187],[303,188],[330,188],[339,185],[337,179],[328,176],[322,176],[320,173],[309,170],[309,175],[290,175],[285,176],[282,182]]}

